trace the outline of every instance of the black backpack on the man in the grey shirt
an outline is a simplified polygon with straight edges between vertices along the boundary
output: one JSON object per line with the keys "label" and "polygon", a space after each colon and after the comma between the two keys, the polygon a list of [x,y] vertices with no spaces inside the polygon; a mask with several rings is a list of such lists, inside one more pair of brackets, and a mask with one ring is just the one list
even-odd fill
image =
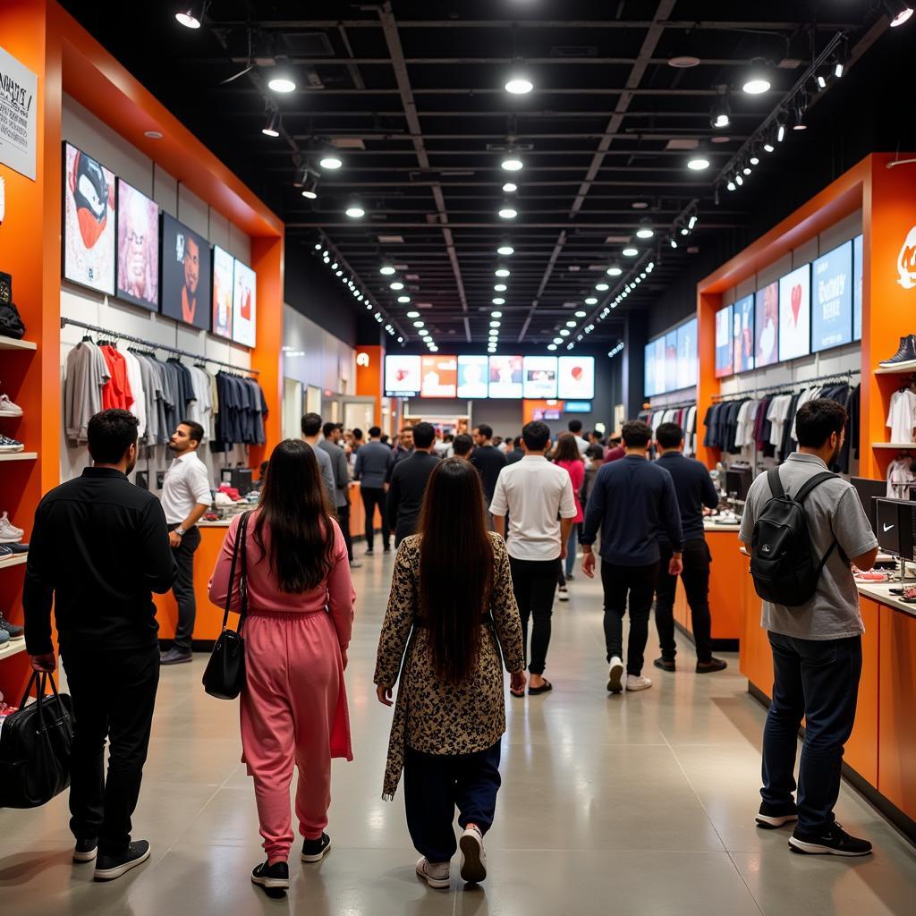
{"label": "black backpack on the man in the grey shirt", "polygon": [[834,552],[836,539],[817,562],[802,504],[815,486],[835,476],[829,471],[814,474],[795,496],[787,496],[779,468],[771,468],[767,473],[772,498],[754,524],[750,549],[750,574],[757,594],[764,601],[798,607],[812,599],[823,565]]}

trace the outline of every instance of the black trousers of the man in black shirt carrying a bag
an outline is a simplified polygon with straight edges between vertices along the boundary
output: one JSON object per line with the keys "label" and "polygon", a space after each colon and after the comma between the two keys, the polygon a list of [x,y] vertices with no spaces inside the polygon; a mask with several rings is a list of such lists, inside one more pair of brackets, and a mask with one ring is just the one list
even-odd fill
{"label": "black trousers of the man in black shirt carrying a bag", "polygon": [[120,853],[130,843],[130,818],[147,759],[159,650],[154,645],[111,650],[68,646],[60,651],[76,719],[70,829],[78,840],[98,837],[103,853]]}

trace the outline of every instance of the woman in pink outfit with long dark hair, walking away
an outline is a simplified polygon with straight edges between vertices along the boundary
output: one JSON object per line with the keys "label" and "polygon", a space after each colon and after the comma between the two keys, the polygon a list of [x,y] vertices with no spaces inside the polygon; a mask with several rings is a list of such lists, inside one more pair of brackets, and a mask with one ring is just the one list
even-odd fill
{"label": "woman in pink outfit with long dark hair, walking away", "polygon": [[[224,604],[239,518],[210,581]],[[302,861],[319,862],[331,803],[331,758],[353,759],[344,669],[356,594],[344,535],[331,517],[318,462],[306,442],[280,442],[270,456],[260,506],[248,519],[245,573],[243,760],[255,780],[267,862],[252,881],[271,896],[289,888],[289,784],[299,769],[296,816]],[[233,607],[239,606],[239,578]]]}

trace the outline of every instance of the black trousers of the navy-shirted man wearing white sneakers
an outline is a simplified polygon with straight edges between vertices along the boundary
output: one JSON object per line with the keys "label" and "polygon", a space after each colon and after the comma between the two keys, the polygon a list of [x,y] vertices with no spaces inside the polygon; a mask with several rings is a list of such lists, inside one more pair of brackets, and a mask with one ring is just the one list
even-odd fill
{"label": "black trousers of the navy-shirted man wearing white sneakers", "polygon": [[649,641],[649,611],[658,579],[659,564],[617,566],[601,561],[601,584],[605,589],[605,646],[607,660],[624,654],[624,615],[629,597],[630,632],[627,639],[627,674],[642,673]]}

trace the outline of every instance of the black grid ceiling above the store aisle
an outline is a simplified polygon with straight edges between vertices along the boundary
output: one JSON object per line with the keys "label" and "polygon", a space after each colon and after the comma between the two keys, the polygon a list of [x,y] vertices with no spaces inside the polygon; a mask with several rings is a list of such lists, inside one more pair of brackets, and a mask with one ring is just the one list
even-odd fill
{"label": "black grid ceiling above the store aisle", "polygon": [[[288,257],[330,241],[411,342],[406,312],[419,308],[450,348],[485,341],[494,309],[501,344],[548,344],[575,311],[587,317],[569,340],[593,323],[588,343],[616,338],[627,311],[650,307],[700,252],[736,238],[755,201],[780,187],[791,162],[781,147],[757,191],[720,186],[716,199],[719,170],[811,60],[843,33],[844,53],[864,69],[888,27],[876,0],[213,0],[196,31],[176,22],[173,3],[131,5],[129,29],[111,5],[63,5],[282,216]],[[908,53],[903,41],[882,47]],[[680,56],[699,63],[671,66]],[[278,57],[296,74],[289,95],[267,89]],[[769,61],[773,85],[750,96],[741,83],[756,58]],[[517,67],[535,84],[527,95],[503,89]],[[848,82],[831,80],[823,99],[812,88],[812,112]],[[717,131],[710,108],[725,91],[732,120]],[[270,108],[281,116],[275,139],[261,133]],[[683,147],[695,142],[712,162],[702,172],[686,168]],[[327,144],[344,167],[322,173]],[[500,168],[510,146],[525,164],[511,174]],[[319,173],[317,200],[294,187],[296,163]],[[507,180],[517,192],[502,191]],[[504,199],[516,219],[497,216]],[[353,200],[362,219],[344,214]],[[667,236],[691,208],[696,227],[672,249]],[[605,268],[634,263],[621,249],[644,219],[656,236],[637,242],[636,263],[657,267],[595,322],[627,279]],[[514,255],[497,256],[503,239]],[[397,277],[379,274],[384,261]],[[497,267],[511,276],[496,278]],[[394,279],[407,289],[388,289]],[[601,281],[611,289],[595,292]],[[408,305],[397,302],[404,294]],[[583,304],[589,295],[597,305]]]}

